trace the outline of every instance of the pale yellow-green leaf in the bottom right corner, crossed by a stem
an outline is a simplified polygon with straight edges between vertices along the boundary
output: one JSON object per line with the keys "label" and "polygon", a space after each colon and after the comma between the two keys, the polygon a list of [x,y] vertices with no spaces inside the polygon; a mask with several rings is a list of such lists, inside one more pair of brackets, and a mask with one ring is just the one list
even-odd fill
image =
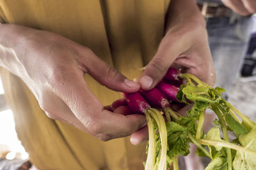
{"label": "pale yellow-green leaf in the bottom right corner, crossed by a stem", "polygon": [[[242,146],[256,151],[256,129],[252,129],[248,134],[241,134],[239,142]],[[234,169],[256,169],[256,156],[250,153],[236,152],[236,157],[233,161]]]}

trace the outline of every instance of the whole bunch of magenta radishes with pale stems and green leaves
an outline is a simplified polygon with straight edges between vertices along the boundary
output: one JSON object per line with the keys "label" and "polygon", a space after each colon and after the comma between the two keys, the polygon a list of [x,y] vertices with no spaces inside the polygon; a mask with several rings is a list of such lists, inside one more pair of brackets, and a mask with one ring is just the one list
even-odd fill
{"label": "whole bunch of magenta radishes with pale stems and green leaves", "polygon": [[[184,80],[186,83],[182,84]],[[143,113],[147,117],[147,170],[167,169],[170,164],[179,169],[178,156],[188,155],[189,143],[198,146],[198,156],[212,159],[206,167],[208,170],[256,169],[253,161],[256,160],[256,124],[221,97],[224,91],[210,87],[192,74],[170,68],[154,89],[124,94],[124,99],[113,103],[111,108],[127,105],[131,113]],[[173,103],[193,106],[182,116],[172,110]],[[213,122],[216,127],[207,134],[202,130],[206,108],[218,117]],[[232,142],[228,131],[237,137]]]}

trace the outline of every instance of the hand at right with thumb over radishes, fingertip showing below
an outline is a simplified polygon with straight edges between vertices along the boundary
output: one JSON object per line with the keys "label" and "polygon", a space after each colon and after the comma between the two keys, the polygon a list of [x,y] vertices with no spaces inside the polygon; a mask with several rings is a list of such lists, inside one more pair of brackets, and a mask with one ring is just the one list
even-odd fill
{"label": "hand at right with thumb over radishes, fingertip showing below", "polygon": [[[175,6],[170,10],[175,10]],[[214,85],[215,71],[204,17],[201,13],[184,18],[179,18],[179,15],[170,16],[171,24],[167,25],[157,53],[138,80],[141,89],[150,90],[156,87],[170,66],[181,68],[182,72],[194,74],[209,85]],[[147,135],[147,127],[144,127],[132,134],[131,143],[138,145],[147,140]]]}

